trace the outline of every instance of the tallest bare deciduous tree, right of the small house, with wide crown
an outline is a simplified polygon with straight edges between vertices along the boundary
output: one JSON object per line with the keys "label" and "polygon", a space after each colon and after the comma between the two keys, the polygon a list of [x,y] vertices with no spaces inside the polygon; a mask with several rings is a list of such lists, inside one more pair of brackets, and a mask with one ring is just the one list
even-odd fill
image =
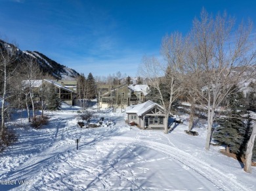
{"label": "tallest bare deciduous tree, right of the small house, with wide crown", "polygon": [[190,33],[194,55],[190,67],[202,82],[194,92],[207,109],[206,150],[209,150],[217,109],[226,96],[234,94],[232,86],[249,80],[255,71],[256,54],[249,39],[251,22],[247,26],[240,24],[237,30],[234,27],[234,20],[226,14],[213,18],[202,10]]}

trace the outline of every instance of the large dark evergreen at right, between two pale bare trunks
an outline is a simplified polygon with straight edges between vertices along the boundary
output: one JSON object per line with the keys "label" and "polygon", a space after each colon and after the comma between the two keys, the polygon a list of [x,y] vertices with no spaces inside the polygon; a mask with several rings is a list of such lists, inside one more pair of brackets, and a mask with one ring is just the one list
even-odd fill
{"label": "large dark evergreen at right, between two pale bare trunks", "polygon": [[242,147],[244,147],[244,135],[246,124],[243,120],[245,107],[242,107],[244,99],[243,93],[238,92],[237,86],[233,88],[234,94],[228,97],[230,105],[230,113],[224,118],[217,120],[219,126],[216,128],[213,139],[219,145],[226,145],[226,151],[235,154],[240,154]]}

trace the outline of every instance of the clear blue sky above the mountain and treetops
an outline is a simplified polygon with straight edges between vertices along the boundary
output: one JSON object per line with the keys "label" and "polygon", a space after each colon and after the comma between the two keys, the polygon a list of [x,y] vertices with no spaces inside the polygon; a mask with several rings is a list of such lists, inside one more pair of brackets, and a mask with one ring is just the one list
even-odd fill
{"label": "clear blue sky above the mountain and treetops", "polygon": [[159,56],[163,36],[185,35],[203,7],[256,23],[255,0],[0,0],[0,7],[1,39],[85,76],[135,77],[142,56]]}

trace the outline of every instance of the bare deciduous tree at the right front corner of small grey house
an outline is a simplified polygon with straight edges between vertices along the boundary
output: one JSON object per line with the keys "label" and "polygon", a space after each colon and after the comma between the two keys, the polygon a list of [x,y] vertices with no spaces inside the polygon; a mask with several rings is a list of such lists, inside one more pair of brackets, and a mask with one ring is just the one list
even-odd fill
{"label": "bare deciduous tree at the right front corner of small grey house", "polygon": [[[179,33],[166,35],[161,44],[163,63],[160,63],[156,58],[144,57],[142,65],[140,65],[140,74],[147,78],[149,85],[158,92],[155,96],[165,113],[164,133],[169,131],[168,119],[171,113],[171,105],[181,94],[185,42]],[[169,98],[166,99],[164,94],[169,94]]]}

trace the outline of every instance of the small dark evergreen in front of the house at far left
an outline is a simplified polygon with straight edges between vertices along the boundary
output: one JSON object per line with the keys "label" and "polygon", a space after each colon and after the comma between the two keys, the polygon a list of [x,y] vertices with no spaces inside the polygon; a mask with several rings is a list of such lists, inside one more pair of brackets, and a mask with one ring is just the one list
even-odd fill
{"label": "small dark evergreen in front of the house at far left", "polygon": [[61,102],[58,94],[56,93],[56,88],[54,87],[54,84],[51,84],[48,89],[47,108],[49,110],[59,110],[60,106]]}

